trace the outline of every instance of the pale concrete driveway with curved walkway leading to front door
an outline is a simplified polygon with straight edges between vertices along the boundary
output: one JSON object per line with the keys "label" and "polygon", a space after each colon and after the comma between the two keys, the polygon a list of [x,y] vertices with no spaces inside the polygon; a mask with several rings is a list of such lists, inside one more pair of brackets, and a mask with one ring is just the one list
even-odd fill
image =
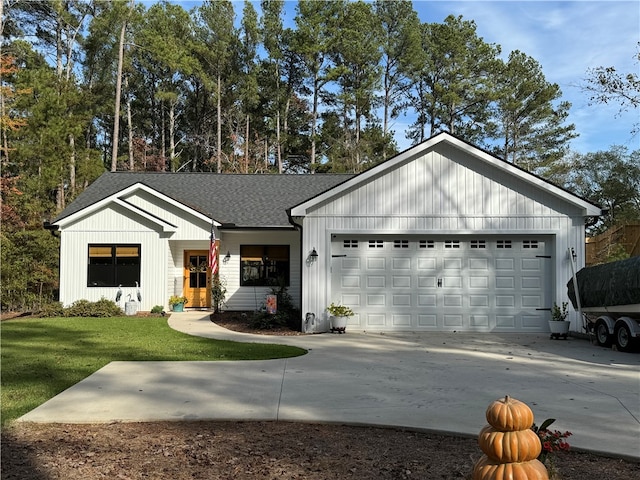
{"label": "pale concrete driveway with curved walkway leading to front door", "polygon": [[21,421],[272,420],[374,424],[476,436],[508,394],[575,448],[640,460],[640,354],[542,334],[263,336],[204,312],[173,314],[190,335],[296,345],[247,362],[112,362]]}

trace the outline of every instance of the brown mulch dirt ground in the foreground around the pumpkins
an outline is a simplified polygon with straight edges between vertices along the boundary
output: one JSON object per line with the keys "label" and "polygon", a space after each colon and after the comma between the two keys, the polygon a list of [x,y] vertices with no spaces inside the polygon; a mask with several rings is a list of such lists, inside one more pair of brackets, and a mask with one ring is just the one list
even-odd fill
{"label": "brown mulch dirt ground in the foreground around the pumpkins", "polygon": [[[272,422],[16,424],[2,478],[470,479],[476,440],[398,429]],[[564,480],[635,480],[640,463],[568,452]]]}

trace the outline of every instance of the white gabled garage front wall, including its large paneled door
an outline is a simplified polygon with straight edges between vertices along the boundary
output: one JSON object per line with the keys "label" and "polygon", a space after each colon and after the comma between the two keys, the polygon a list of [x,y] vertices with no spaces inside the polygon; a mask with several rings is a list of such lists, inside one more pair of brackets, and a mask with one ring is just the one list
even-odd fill
{"label": "white gabled garage front wall, including its large paneled door", "polygon": [[355,329],[547,331],[546,309],[566,301],[567,249],[583,258],[584,209],[448,144],[401,160],[293,209],[302,251],[319,255],[303,265],[303,317],[326,329],[325,308],[340,301]]}

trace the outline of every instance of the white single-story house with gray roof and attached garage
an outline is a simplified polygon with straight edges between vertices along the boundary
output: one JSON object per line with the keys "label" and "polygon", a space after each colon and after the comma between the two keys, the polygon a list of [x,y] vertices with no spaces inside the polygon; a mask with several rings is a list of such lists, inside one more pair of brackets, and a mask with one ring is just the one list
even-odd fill
{"label": "white single-story house with gray roof and attached garage", "polygon": [[121,290],[142,311],[209,308],[213,228],[227,310],[259,309],[280,280],[306,332],[328,331],[332,302],[356,330],[547,332],[599,215],[440,133],[358,175],[105,173],[48,228],[65,305]]}

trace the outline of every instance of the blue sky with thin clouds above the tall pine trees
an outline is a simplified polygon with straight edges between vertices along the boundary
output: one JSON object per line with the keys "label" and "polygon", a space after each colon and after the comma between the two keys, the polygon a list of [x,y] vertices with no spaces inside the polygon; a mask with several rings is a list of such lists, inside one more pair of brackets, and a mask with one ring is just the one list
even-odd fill
{"label": "blue sky with thin clouds above the tall pine trees", "polygon": [[[187,10],[200,4],[173,0]],[[146,1],[145,4],[153,3]],[[259,8],[259,1],[254,2]],[[243,1],[234,1],[240,16]],[[474,20],[477,33],[488,43],[502,47],[506,59],[520,50],[540,63],[548,82],[557,83],[562,100],[571,102],[569,122],[580,134],[571,144],[579,153],[608,150],[624,145],[640,148],[640,135],[632,136],[640,111],[620,115],[619,104],[589,105],[580,85],[587,70],[613,66],[622,73],[639,73],[640,2],[547,0],[414,0],[422,22],[442,22],[447,15]],[[293,26],[295,1],[286,2],[285,24]],[[409,146],[404,130],[411,119],[400,117],[393,125],[400,150]]]}

